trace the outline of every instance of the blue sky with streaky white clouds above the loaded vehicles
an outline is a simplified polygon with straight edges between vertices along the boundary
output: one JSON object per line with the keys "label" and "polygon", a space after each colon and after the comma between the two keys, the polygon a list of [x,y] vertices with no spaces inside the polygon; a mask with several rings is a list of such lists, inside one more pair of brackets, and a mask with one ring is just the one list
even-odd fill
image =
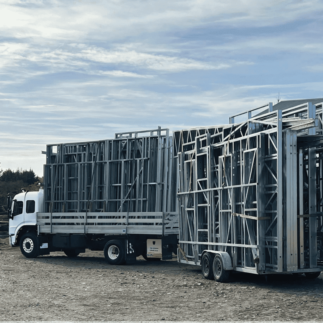
{"label": "blue sky with streaky white clouds above the loaded vehicles", "polygon": [[0,0],[0,169],[322,98],[322,21],[322,0]]}

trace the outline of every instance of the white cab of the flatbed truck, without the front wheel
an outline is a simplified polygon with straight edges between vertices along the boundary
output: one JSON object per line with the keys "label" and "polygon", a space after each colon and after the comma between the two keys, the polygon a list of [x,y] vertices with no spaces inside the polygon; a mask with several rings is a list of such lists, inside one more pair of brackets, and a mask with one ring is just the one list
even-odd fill
{"label": "white cab of the flatbed truck, without the front wheel", "polygon": [[[44,191],[22,192],[8,199],[9,244],[19,245],[18,236],[28,231],[36,231],[36,214],[43,212]],[[10,205],[11,204],[11,205]]]}

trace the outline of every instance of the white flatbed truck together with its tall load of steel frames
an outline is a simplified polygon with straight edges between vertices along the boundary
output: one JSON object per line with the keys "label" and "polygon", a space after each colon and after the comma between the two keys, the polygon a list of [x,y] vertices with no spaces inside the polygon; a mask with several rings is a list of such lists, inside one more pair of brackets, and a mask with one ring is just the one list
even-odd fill
{"label": "white flatbed truck together with its tall load of steel frames", "polygon": [[23,255],[102,250],[109,264],[119,265],[177,253],[177,172],[168,129],[47,145],[44,153],[44,190],[8,194],[9,243]]}

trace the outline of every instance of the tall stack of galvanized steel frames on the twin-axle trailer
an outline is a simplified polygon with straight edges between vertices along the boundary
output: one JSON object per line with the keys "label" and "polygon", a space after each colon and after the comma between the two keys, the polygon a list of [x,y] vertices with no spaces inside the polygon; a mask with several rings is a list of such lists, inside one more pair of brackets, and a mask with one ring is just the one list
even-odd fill
{"label": "tall stack of galvanized steel frames on the twin-axle trailer", "polygon": [[236,271],[321,271],[322,103],[259,109],[241,123],[236,115],[229,125],[174,132],[179,261],[199,265],[214,250]]}

